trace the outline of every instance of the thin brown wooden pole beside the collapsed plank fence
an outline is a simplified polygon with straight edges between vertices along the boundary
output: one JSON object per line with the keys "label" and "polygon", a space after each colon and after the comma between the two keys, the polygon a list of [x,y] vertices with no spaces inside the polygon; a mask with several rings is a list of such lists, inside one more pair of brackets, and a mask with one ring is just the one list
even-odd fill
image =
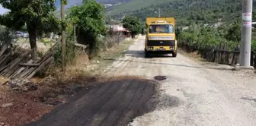
{"label": "thin brown wooden pole beside the collapsed plank fence", "polygon": [[62,72],[66,71],[66,31],[65,26],[63,26],[63,23],[65,21],[65,5],[64,0],[61,0],[61,20],[62,20]]}

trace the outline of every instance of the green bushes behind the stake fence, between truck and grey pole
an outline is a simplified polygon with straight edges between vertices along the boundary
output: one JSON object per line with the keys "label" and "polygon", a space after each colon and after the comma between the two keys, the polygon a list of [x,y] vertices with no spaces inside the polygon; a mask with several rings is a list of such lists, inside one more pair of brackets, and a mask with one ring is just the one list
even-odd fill
{"label": "green bushes behind the stake fence, between truck and grey pole", "polygon": [[[234,49],[240,43],[241,29],[238,24],[231,24],[229,27],[214,28],[203,27],[199,24],[193,24],[188,30],[184,30],[178,36],[182,43],[192,41],[199,45],[198,49],[212,48],[220,43],[227,43],[229,50]],[[199,43],[199,44],[198,44]]]}

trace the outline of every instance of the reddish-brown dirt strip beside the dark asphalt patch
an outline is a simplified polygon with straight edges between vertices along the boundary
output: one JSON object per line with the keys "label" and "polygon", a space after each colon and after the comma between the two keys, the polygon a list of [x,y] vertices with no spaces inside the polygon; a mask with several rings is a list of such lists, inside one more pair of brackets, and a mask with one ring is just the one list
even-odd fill
{"label": "reddish-brown dirt strip beside the dark asphalt patch", "polygon": [[0,83],[0,125],[19,126],[37,121],[95,81],[94,77],[73,77],[64,82],[46,77],[37,83],[27,79]]}

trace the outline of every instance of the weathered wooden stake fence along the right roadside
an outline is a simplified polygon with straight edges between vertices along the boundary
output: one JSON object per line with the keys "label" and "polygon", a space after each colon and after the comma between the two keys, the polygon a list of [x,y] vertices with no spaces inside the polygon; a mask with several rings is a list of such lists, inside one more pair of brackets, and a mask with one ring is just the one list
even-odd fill
{"label": "weathered wooden stake fence along the right roadside", "polygon": [[[206,61],[212,61],[224,65],[236,65],[240,61],[240,47],[229,43],[206,44],[193,43],[181,40],[178,44],[186,52],[198,52]],[[256,68],[256,53],[251,51],[251,66]]]}

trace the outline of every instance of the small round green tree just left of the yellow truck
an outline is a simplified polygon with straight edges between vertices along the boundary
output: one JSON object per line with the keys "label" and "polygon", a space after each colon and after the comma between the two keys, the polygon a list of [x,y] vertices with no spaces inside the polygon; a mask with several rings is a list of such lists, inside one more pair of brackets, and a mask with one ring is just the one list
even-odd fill
{"label": "small round green tree just left of the yellow truck", "polygon": [[130,30],[132,37],[136,34],[141,33],[142,23],[138,17],[126,16],[122,20],[123,27]]}

